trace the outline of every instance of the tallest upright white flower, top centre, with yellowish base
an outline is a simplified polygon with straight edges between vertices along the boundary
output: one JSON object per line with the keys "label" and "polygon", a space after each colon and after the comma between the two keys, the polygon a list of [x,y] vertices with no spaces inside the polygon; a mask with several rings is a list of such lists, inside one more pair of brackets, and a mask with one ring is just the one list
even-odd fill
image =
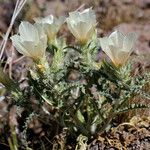
{"label": "tallest upright white flower, top centre, with yellowish base", "polygon": [[69,13],[67,24],[75,38],[84,44],[90,40],[95,31],[96,16],[92,8],[82,12],[74,11]]}

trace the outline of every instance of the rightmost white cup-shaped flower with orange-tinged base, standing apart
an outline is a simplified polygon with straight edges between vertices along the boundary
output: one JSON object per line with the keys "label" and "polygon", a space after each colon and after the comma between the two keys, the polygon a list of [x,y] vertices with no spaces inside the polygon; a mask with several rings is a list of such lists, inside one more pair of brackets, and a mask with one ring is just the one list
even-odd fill
{"label": "rightmost white cup-shaped flower with orange-tinged base, standing apart", "polygon": [[118,67],[124,65],[133,52],[136,38],[135,33],[124,35],[119,31],[115,31],[109,37],[100,38],[100,44],[102,50]]}

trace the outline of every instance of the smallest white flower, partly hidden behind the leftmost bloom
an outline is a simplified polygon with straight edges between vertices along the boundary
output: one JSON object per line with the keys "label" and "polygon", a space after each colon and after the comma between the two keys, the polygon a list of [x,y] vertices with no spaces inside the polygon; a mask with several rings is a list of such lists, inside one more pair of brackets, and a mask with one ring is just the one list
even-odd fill
{"label": "smallest white flower, partly hidden behind the leftmost bloom", "polygon": [[49,15],[45,18],[34,18],[34,21],[42,25],[45,33],[48,36],[48,41],[51,42],[55,39],[61,25],[65,22],[65,18],[56,18],[53,15]]}

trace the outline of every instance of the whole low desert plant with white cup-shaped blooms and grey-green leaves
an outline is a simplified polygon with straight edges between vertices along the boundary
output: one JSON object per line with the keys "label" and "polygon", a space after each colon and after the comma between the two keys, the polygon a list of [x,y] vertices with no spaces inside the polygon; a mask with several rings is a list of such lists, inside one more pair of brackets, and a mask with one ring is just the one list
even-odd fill
{"label": "whole low desert plant with white cup-shaped blooms and grey-green leaves", "polygon": [[[109,37],[97,38],[96,17],[90,8],[70,13],[67,23],[77,43],[67,45],[56,38],[56,33],[52,43],[47,41],[48,23],[42,22],[39,18],[34,25],[22,22],[20,35],[11,37],[16,49],[33,59],[26,90],[11,90],[16,105],[32,110],[31,95],[39,108],[48,103],[52,119],[75,137],[80,133],[88,137],[99,135],[118,114],[148,108],[128,103],[137,95],[150,98],[143,90],[149,84],[149,72],[131,74],[132,62],[128,60],[134,48],[134,33],[125,36],[115,31]],[[100,47],[110,59],[96,60]],[[47,61],[47,53],[52,56],[51,63]]]}

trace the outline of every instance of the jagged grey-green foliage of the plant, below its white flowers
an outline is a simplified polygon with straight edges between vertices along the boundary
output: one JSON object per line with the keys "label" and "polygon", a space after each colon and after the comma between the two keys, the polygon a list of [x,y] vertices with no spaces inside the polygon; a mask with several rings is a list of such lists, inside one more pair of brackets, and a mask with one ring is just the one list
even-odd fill
{"label": "jagged grey-green foliage of the plant, below its white flowers", "polygon": [[[94,41],[76,46],[57,41],[48,46],[52,62],[45,59],[42,64],[35,63],[28,71],[28,87],[23,91],[19,87],[11,90],[15,104],[25,107],[30,114],[24,135],[28,122],[34,114],[40,115],[45,103],[50,107],[51,119],[75,137],[81,133],[86,137],[101,134],[118,114],[148,108],[134,104],[132,99],[150,99],[145,90],[149,73],[132,75],[131,63],[116,67],[105,59],[97,62],[98,49]],[[33,99],[38,109],[32,107]],[[76,149],[79,147],[80,140]]]}

